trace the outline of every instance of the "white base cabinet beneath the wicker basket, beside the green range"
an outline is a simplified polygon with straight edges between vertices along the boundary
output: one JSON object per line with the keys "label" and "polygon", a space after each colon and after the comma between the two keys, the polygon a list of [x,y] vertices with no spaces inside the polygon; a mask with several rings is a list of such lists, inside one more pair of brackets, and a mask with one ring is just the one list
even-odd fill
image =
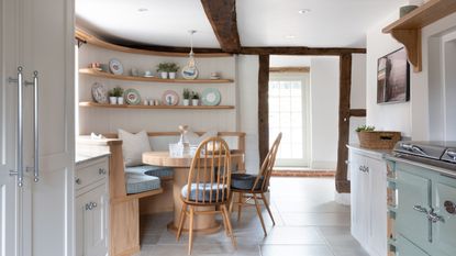
{"label": "white base cabinet beneath the wicker basket, beside the green range", "polygon": [[352,235],[371,256],[387,255],[387,165],[382,155],[351,147]]}

